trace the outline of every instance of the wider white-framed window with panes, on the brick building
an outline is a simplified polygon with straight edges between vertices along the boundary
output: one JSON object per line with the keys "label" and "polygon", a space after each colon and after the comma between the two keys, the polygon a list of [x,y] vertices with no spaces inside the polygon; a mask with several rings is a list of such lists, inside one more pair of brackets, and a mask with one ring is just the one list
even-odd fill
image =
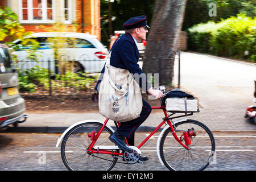
{"label": "wider white-framed window with panes, on the brick building", "polygon": [[20,23],[54,23],[55,0],[19,0]]}

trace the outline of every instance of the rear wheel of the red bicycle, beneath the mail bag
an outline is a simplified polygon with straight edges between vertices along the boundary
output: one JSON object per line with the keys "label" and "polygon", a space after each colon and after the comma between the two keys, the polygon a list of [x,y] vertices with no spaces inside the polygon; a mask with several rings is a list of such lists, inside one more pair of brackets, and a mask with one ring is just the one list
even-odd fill
{"label": "rear wheel of the red bicycle, beneath the mail bag", "polygon": [[[70,171],[101,171],[110,170],[117,162],[117,158],[109,154],[88,154],[87,149],[95,135],[102,127],[102,123],[87,122],[73,127],[65,134],[61,143],[61,159]],[[112,130],[104,127],[96,141],[96,145],[113,145],[109,140]],[[119,150],[115,150],[119,152]]]}

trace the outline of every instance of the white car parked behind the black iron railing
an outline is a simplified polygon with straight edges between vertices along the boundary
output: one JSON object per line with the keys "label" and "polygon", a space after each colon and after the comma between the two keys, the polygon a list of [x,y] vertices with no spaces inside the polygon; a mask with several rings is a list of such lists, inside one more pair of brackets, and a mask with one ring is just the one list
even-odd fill
{"label": "white car parked behind the black iron railing", "polygon": [[[31,45],[22,46],[20,49],[13,52],[18,59],[18,67],[22,69],[30,69],[39,65],[42,68],[48,68],[48,60],[51,60],[51,71],[56,73],[56,64],[54,64],[53,44],[59,44],[57,48],[57,60],[64,63],[66,61],[75,60],[75,71],[85,71],[88,73],[101,72],[104,67],[108,49],[96,38],[95,35],[75,33],[75,32],[39,32],[31,34],[28,38],[36,39],[39,42],[40,48],[36,53],[38,61],[27,61],[27,51]],[[53,43],[52,38],[59,40]],[[25,38],[26,39],[26,38]],[[21,40],[15,40],[14,45],[21,46]],[[60,62],[58,62],[60,64]],[[74,63],[74,62],[73,62]]]}

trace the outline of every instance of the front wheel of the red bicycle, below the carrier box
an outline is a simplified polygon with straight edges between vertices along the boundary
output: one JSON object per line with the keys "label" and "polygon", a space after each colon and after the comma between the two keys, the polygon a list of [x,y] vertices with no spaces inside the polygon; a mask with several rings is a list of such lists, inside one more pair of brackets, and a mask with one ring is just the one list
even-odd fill
{"label": "front wheel of the red bicycle, below the carrier box", "polygon": [[[199,171],[207,168],[215,151],[212,132],[203,123],[192,119],[176,123],[175,127],[179,138],[188,129],[195,130],[196,136],[191,138],[190,149],[187,150],[177,142],[169,127],[160,141],[160,156],[164,165],[170,170],[178,171]],[[185,144],[184,140],[183,143]]]}

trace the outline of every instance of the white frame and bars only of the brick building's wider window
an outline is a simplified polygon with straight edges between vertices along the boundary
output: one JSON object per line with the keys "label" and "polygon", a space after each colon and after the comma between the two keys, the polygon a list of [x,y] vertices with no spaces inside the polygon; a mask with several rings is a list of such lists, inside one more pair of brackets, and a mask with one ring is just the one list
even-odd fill
{"label": "white frame and bars only of the brick building's wider window", "polygon": [[33,19],[32,0],[27,0],[28,20],[23,20],[22,0],[19,0],[20,23],[55,23],[55,0],[52,0],[52,20],[47,19],[47,0],[42,0],[42,20]]}

